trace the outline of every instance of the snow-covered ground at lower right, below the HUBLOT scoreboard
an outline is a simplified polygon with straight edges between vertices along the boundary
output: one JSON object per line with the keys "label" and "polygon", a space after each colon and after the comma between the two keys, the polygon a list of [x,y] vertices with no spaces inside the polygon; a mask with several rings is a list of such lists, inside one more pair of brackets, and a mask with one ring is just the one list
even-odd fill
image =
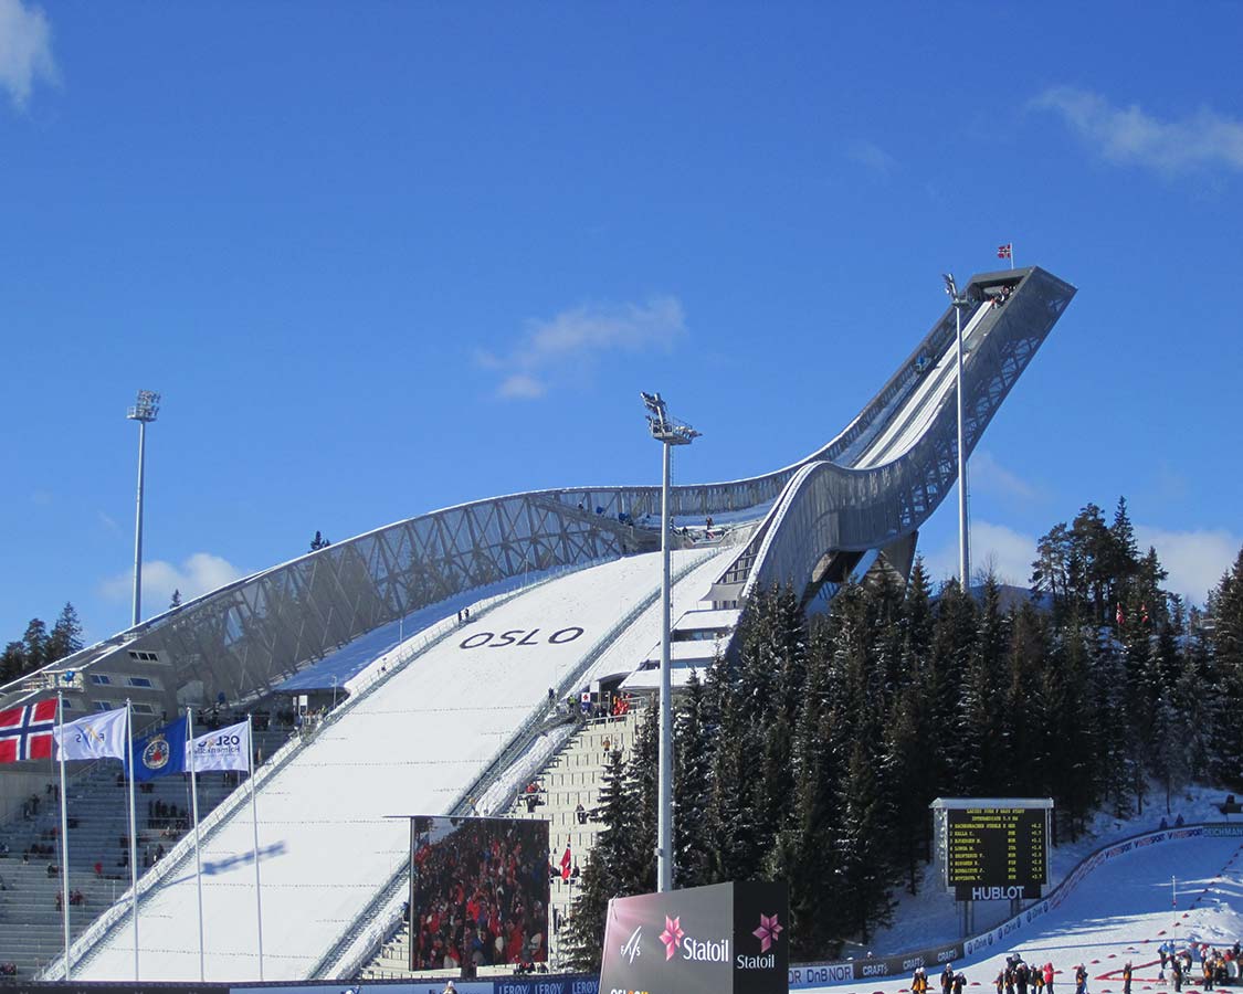
{"label": "snow-covered ground at lower right, below the HUBLOT scoreboard", "polygon": [[[1221,820],[1216,809],[1212,820]],[[1177,906],[1173,906],[1175,881]],[[1241,938],[1243,839],[1192,837],[1136,847],[1103,862],[1058,907],[1016,932],[1013,942],[984,944],[981,952],[953,965],[966,975],[968,988],[989,988],[1006,957],[1018,952],[1028,963],[1053,963],[1058,972],[1054,989],[1062,994],[1074,989],[1071,978],[1080,963],[1089,972],[1090,994],[1121,994],[1120,973],[1130,962],[1135,970],[1132,992],[1144,994],[1172,990],[1168,978],[1158,977],[1157,946],[1162,942],[1226,948]],[[907,949],[927,944],[926,936],[914,932],[904,943]],[[932,987],[940,989],[936,977],[940,968],[930,965],[927,972]],[[901,994],[909,992],[910,979],[904,973],[799,989]]]}

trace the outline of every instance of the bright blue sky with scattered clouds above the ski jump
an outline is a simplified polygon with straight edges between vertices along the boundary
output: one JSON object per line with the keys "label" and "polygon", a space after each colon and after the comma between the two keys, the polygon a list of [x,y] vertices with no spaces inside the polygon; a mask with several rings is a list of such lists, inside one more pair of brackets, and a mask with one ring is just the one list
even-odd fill
{"label": "bright blue sky with scattered clouds above the ski jump", "polygon": [[[0,639],[461,501],[837,434],[999,242],[1079,296],[986,434],[976,562],[1126,495],[1243,545],[1243,7],[0,0]],[[955,568],[955,502],[926,527]]]}

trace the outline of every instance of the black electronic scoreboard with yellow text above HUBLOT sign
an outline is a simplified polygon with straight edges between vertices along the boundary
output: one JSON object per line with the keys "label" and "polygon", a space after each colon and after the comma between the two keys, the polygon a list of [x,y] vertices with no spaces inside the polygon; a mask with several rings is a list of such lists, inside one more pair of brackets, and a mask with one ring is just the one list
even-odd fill
{"label": "black electronic scoreboard with yellow text above HUBLOT sign", "polygon": [[946,886],[958,901],[1040,896],[1048,872],[1048,808],[946,804]]}

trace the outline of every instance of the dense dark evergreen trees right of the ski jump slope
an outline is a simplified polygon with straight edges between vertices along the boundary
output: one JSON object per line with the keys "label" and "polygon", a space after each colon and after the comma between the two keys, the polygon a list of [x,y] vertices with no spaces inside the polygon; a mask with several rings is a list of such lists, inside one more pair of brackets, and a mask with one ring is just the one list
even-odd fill
{"label": "dense dark evergreen trees right of the ski jump slope", "polygon": [[[1243,787],[1243,552],[1188,608],[1119,501],[1043,536],[1030,594],[881,573],[810,622],[789,589],[747,605],[736,652],[675,712],[675,886],[786,880],[792,960],[891,921],[931,859],[937,796],[1050,796],[1089,816],[1168,811],[1190,780]],[[614,896],[656,878],[658,716],[613,753],[600,836],[563,937],[598,969]],[[1154,815],[1156,818],[1156,814]]]}

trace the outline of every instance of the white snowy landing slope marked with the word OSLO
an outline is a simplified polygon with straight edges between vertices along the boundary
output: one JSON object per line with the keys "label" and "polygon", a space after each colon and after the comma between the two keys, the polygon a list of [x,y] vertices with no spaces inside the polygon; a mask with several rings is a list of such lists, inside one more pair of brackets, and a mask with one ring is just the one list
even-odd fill
{"label": "white snowy landing slope marked with the word OSLO", "polygon": [[[675,554],[674,569],[701,555]],[[265,782],[259,793],[265,979],[306,977],[388,878],[404,854],[406,825],[387,816],[447,810],[508,734],[546,703],[547,688],[659,581],[659,555],[638,555],[503,603],[395,673]],[[251,847],[249,805],[204,846],[208,980],[259,975]],[[140,978],[196,979],[193,857],[139,911]],[[75,977],[124,980],[133,970],[127,924],[113,929]]]}

